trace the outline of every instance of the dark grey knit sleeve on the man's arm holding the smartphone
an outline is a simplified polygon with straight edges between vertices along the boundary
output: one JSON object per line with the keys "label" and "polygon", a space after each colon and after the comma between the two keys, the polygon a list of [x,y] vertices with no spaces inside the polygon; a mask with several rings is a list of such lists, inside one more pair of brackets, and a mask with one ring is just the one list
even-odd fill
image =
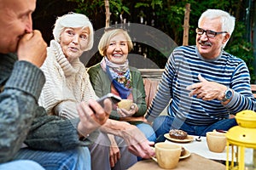
{"label": "dark grey knit sleeve on the man's arm holding the smartphone", "polygon": [[77,131],[79,118],[61,119],[59,116],[47,116],[43,107],[38,106],[37,116],[27,135],[25,144],[35,150],[70,150],[77,146],[88,146],[95,141],[94,133],[90,140],[79,141]]}

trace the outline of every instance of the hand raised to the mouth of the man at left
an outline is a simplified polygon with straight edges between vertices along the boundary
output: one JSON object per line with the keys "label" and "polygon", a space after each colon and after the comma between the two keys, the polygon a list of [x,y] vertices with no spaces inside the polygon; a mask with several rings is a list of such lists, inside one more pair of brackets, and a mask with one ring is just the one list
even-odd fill
{"label": "hand raised to the mouth of the man at left", "polygon": [[32,31],[21,37],[17,54],[19,60],[26,60],[40,67],[46,58],[47,43],[44,42],[40,31]]}

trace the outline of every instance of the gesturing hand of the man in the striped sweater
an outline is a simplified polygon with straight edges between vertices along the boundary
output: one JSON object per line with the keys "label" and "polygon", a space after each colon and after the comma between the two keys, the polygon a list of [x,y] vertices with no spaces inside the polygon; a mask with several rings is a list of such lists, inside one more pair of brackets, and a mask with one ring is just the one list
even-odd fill
{"label": "gesturing hand of the man in the striped sweater", "polygon": [[227,87],[219,84],[218,82],[209,82],[205,78],[201,77],[201,75],[198,75],[198,79],[200,82],[187,87],[188,90],[191,90],[189,96],[196,95],[196,98],[203,100],[223,99],[224,91]]}

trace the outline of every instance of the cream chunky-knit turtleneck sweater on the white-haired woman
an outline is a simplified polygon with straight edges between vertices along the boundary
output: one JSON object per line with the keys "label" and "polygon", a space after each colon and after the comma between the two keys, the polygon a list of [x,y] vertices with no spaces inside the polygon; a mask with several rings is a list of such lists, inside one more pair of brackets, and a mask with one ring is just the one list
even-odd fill
{"label": "cream chunky-knit turtleneck sweater on the white-haired woman", "polygon": [[77,117],[76,106],[80,101],[97,99],[84,64],[79,59],[69,63],[61,45],[55,40],[47,48],[47,58],[41,69],[46,83],[38,102],[49,115]]}

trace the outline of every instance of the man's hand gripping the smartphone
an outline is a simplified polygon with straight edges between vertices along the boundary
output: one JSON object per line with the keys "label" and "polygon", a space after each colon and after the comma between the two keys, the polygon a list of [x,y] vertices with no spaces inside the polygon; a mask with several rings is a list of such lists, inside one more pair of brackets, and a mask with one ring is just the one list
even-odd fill
{"label": "man's hand gripping the smartphone", "polygon": [[96,128],[101,127],[107,120],[112,111],[112,103],[110,99],[104,100],[104,109],[96,100],[90,99],[88,105],[83,101],[78,105],[79,112],[79,133],[87,136]]}

